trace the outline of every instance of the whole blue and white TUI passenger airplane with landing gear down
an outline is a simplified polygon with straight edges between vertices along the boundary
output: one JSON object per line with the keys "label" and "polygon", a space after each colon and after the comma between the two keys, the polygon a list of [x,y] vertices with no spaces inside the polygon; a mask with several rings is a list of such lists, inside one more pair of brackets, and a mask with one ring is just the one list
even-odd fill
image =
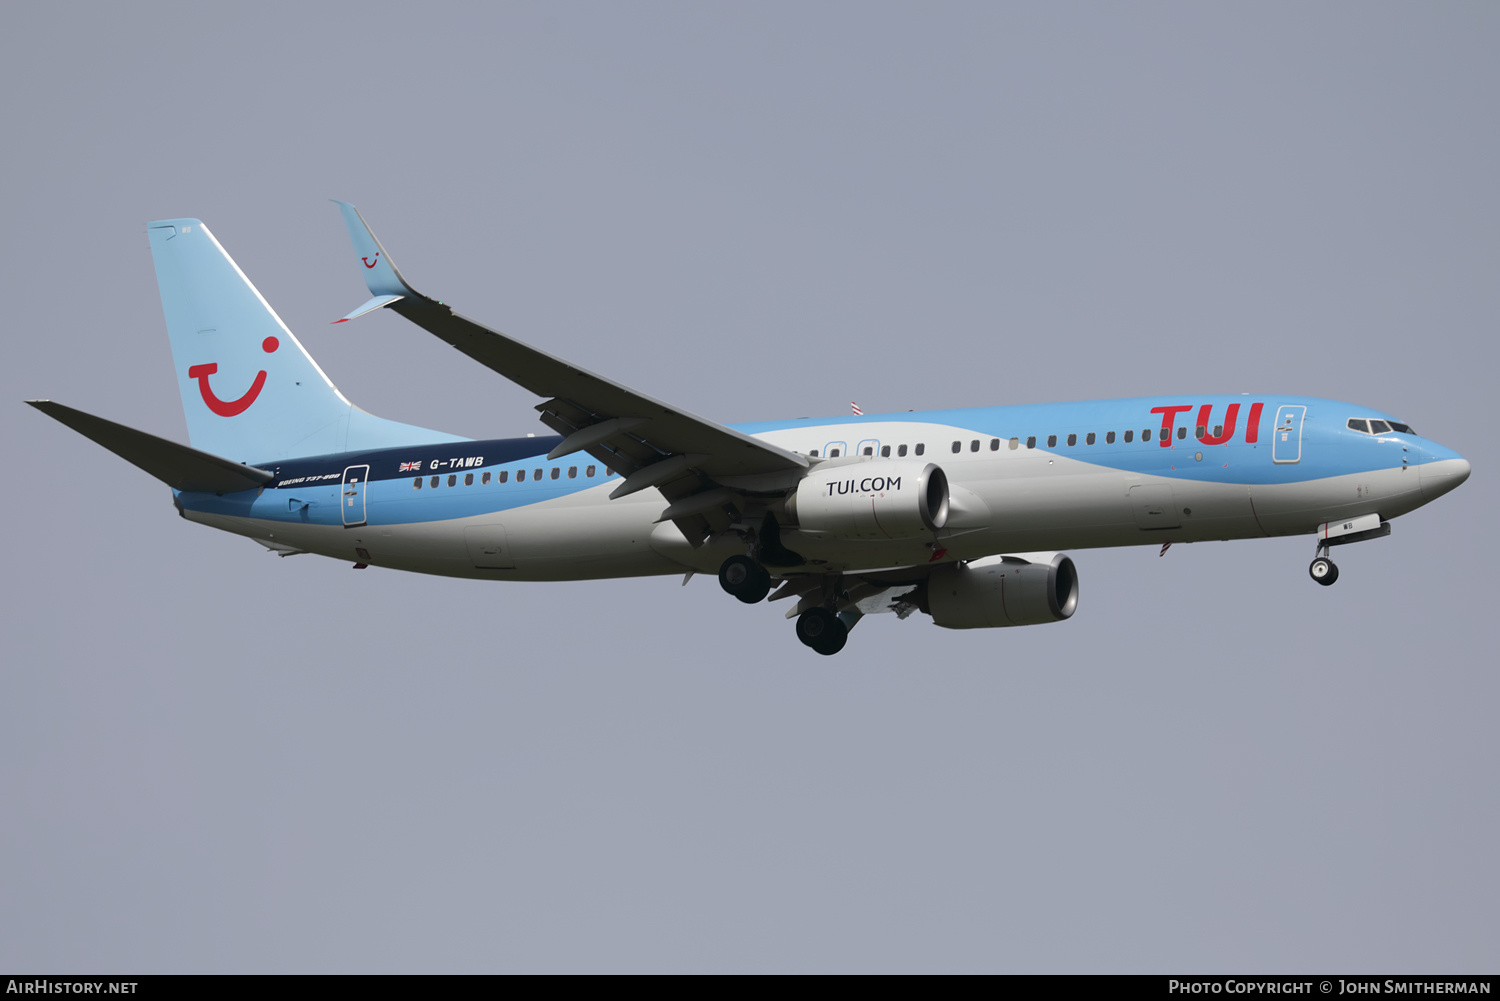
{"label": "whole blue and white TUI passenger airplane with landing gear down", "polygon": [[190,447],[27,402],[165,482],[184,519],[284,557],[486,581],[717,573],[741,602],[790,600],[819,654],[876,612],[1066,620],[1070,549],[1311,534],[1329,585],[1334,546],[1389,536],[1470,473],[1390,414],[1308,396],[723,425],[423,296],[336,204],[370,299],[334,323],[394,311],[534,393],[552,434],[476,441],[352,405],[198,219],[147,225]]}

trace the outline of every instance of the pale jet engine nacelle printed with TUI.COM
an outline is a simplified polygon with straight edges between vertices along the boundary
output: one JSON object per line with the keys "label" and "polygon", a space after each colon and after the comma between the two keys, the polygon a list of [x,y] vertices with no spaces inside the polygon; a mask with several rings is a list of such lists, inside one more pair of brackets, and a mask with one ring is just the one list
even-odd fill
{"label": "pale jet engine nacelle printed with TUI.COM", "polygon": [[948,477],[932,462],[850,462],[814,468],[788,501],[806,533],[916,539],[948,522]]}

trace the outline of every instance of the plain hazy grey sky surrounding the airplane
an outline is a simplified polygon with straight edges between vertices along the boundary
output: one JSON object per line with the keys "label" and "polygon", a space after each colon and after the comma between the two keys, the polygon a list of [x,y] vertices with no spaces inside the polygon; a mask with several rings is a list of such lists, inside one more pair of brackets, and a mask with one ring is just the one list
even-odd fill
{"label": "plain hazy grey sky surrounding the airplane", "polygon": [[[1496,51],[1492,3],[10,11],[0,968],[1494,969]],[[366,410],[543,431],[327,326],[334,197],[720,420],[1308,393],[1474,473],[1334,588],[1082,551],[1066,623],[824,659],[706,578],[279,560],[21,405],[186,440],[144,224],[200,216]]]}

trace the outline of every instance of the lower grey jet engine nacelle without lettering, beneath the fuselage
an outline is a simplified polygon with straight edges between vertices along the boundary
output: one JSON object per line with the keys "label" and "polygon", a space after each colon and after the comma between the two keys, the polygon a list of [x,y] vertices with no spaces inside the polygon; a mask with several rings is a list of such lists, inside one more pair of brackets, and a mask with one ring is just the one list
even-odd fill
{"label": "lower grey jet engine nacelle without lettering, beneath the fuselage", "polygon": [[1056,623],[1077,605],[1078,572],[1060,552],[950,563],[927,578],[927,611],[945,629]]}

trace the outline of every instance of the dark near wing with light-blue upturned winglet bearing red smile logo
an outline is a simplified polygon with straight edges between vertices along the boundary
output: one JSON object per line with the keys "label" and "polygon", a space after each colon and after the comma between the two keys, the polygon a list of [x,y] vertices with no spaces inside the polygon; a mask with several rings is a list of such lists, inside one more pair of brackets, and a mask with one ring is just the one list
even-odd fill
{"label": "dark near wing with light-blue upturned winglet bearing red smile logo", "polygon": [[[564,435],[549,458],[586,452],[626,474],[610,497],[656,486],[694,545],[708,528],[723,530],[742,509],[748,488],[784,489],[808,467],[806,456],[652,399],[453,312],[416,291],[354,206],[344,213],[372,299],[334,323],[388,308],[435,333],[476,362],[544,402],[542,423]],[[729,486],[726,486],[726,480]]]}

